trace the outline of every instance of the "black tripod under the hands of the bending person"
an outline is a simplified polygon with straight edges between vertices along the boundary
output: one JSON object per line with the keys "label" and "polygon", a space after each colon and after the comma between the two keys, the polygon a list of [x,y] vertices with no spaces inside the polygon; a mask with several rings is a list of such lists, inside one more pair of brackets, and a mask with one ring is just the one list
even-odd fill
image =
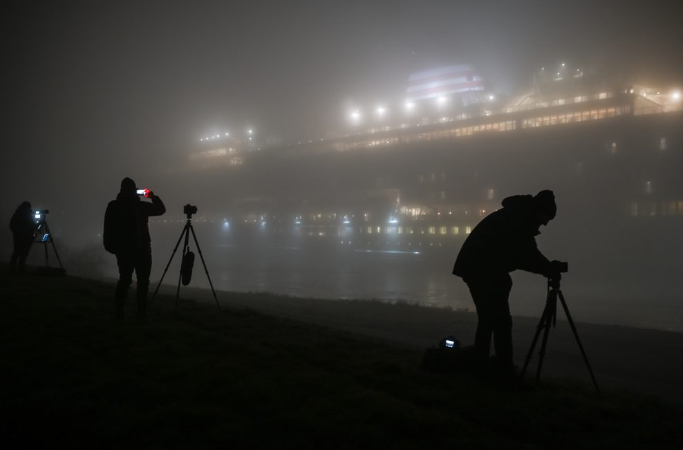
{"label": "black tripod under the hands of the bending person", "polygon": [[545,346],[548,344],[548,334],[550,333],[550,327],[555,328],[557,321],[557,299],[560,299],[562,303],[562,308],[564,308],[565,315],[567,316],[567,321],[569,322],[572,332],[574,332],[574,337],[577,338],[577,344],[579,344],[579,349],[581,350],[581,355],[583,355],[583,361],[586,362],[586,367],[588,367],[588,372],[590,373],[590,378],[593,380],[593,386],[598,394],[600,394],[600,389],[595,381],[595,375],[588,364],[588,357],[586,357],[586,352],[583,350],[581,345],[581,340],[579,339],[579,333],[577,332],[577,327],[574,326],[574,321],[569,313],[569,308],[567,307],[567,302],[564,299],[564,295],[560,290],[560,281],[548,279],[548,299],[545,301],[545,309],[543,310],[543,315],[541,315],[541,321],[539,321],[539,326],[536,328],[536,335],[534,335],[534,340],[532,341],[531,348],[529,348],[529,353],[527,353],[527,359],[524,362],[522,368],[521,376],[527,370],[527,366],[531,361],[532,354],[534,353],[534,348],[536,348],[536,343],[539,341],[539,336],[541,331],[543,331],[543,342],[541,343],[541,351],[539,352],[539,366],[536,368],[536,382],[541,379],[541,368],[543,368],[543,357],[545,357]]}

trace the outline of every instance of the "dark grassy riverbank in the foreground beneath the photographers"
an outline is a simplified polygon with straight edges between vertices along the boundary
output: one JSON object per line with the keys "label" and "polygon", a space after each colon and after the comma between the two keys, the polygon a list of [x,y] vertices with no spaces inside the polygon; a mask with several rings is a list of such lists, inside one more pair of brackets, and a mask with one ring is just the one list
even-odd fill
{"label": "dark grassy riverbank in the foreground beneath the photographers", "polygon": [[193,301],[174,315],[169,297],[116,322],[112,285],[1,281],[2,448],[682,448],[681,412],[635,394],[505,391],[422,373],[411,348]]}

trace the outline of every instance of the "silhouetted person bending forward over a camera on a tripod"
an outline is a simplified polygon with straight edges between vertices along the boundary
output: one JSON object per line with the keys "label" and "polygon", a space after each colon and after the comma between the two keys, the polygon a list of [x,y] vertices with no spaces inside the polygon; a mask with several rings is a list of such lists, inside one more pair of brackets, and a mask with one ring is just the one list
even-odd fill
{"label": "silhouetted person bending forward over a camera on a tripod", "polygon": [[500,371],[504,377],[512,377],[509,272],[521,269],[559,280],[563,263],[548,261],[536,246],[535,236],[541,234],[539,227],[548,225],[555,217],[557,207],[552,191],[507,197],[502,204],[503,208],[486,216],[467,236],[453,274],[467,283],[476,306],[474,347],[479,368],[487,366],[493,335]]}

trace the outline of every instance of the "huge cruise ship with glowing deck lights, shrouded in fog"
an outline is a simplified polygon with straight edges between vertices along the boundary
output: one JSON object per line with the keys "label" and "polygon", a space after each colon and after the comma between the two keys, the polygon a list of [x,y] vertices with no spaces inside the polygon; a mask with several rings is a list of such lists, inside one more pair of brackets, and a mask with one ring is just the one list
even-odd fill
{"label": "huge cruise ship with glowing deck lights, shrouded in fog", "polygon": [[503,95],[471,66],[445,66],[411,75],[407,100],[349,111],[337,136],[200,138],[184,165],[216,194],[201,217],[236,236],[395,252],[452,250],[505,196],[541,189],[574,227],[683,223],[680,91],[568,64],[533,78]]}

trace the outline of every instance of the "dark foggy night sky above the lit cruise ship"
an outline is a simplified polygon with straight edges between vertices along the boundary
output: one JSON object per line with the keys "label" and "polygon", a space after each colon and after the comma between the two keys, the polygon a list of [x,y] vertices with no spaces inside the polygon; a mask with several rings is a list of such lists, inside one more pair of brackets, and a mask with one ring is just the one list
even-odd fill
{"label": "dark foggy night sky above the lit cruise ship", "polygon": [[123,176],[203,135],[322,137],[348,105],[400,102],[434,66],[474,64],[501,92],[559,61],[674,86],[676,3],[10,1],[2,215],[24,199],[99,215]]}

